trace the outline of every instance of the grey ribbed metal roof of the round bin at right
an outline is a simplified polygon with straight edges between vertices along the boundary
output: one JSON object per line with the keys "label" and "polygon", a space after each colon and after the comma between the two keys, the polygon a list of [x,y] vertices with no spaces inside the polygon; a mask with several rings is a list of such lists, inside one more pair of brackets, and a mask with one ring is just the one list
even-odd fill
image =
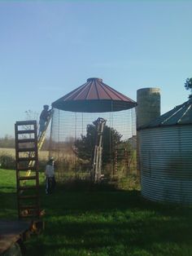
{"label": "grey ribbed metal roof of the round bin at right", "polygon": [[138,130],[155,128],[158,126],[176,126],[192,124],[192,98],[185,103],[176,106],[168,113],[156,118],[146,126],[141,126]]}

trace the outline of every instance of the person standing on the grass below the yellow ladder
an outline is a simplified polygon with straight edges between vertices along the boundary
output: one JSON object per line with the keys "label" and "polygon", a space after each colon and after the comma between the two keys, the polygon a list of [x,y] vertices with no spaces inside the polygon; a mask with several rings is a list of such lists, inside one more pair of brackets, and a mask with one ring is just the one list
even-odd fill
{"label": "person standing on the grass below the yellow ladder", "polygon": [[54,158],[50,157],[50,160],[46,163],[46,194],[51,194],[55,189],[55,166]]}

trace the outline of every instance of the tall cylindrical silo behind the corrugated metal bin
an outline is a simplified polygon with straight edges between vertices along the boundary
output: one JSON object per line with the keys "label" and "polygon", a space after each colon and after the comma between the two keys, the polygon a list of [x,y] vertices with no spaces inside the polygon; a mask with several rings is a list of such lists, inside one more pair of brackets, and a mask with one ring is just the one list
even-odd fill
{"label": "tall cylindrical silo behind the corrugated metal bin", "polygon": [[148,124],[160,116],[159,88],[142,88],[137,90],[137,127]]}

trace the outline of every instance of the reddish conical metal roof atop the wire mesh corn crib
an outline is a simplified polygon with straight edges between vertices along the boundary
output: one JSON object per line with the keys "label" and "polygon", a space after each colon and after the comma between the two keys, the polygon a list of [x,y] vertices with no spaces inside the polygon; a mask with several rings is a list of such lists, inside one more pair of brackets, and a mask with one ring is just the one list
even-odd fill
{"label": "reddish conical metal roof atop the wire mesh corn crib", "polygon": [[133,99],[107,86],[101,78],[92,77],[56,100],[52,107],[72,112],[102,113],[134,108],[136,105]]}

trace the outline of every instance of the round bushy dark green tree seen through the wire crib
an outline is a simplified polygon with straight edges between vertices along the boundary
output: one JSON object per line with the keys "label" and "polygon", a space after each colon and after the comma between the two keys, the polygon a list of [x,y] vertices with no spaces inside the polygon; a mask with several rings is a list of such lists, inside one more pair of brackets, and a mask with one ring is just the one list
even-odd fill
{"label": "round bushy dark green tree seen through the wire crib", "polygon": [[[92,161],[94,156],[94,147],[97,136],[97,121],[93,124],[87,125],[86,135],[81,135],[81,139],[76,139],[76,155],[83,160]],[[103,164],[107,164],[111,161],[113,155],[114,146],[120,143],[122,135],[109,127],[105,126],[103,130]]]}

